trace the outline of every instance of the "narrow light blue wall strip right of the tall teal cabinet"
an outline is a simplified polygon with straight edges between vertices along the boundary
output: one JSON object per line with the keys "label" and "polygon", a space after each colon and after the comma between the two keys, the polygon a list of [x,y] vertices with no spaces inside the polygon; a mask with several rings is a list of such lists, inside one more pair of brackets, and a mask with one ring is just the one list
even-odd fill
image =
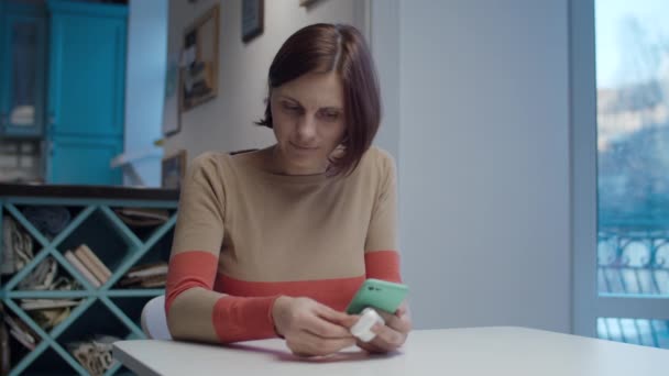
{"label": "narrow light blue wall strip right of the tall teal cabinet", "polygon": [[167,0],[131,0],[125,70],[125,142],[128,157],[146,186],[161,185],[162,137],[167,46]]}

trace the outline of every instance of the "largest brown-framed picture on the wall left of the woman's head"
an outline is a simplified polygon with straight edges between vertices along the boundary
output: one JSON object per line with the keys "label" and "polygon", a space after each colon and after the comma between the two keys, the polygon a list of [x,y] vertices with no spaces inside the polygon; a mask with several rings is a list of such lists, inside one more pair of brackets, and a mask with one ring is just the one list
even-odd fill
{"label": "largest brown-framed picture on the wall left of the woman's head", "polygon": [[218,95],[218,42],[220,7],[213,5],[184,31],[180,75],[179,112]]}

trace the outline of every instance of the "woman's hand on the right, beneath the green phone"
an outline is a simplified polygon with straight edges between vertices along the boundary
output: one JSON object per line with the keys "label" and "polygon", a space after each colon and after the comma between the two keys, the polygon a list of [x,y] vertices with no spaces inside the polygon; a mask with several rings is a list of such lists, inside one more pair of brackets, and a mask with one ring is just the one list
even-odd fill
{"label": "woman's hand on the right, beneath the green phone", "polygon": [[412,319],[408,313],[408,306],[403,302],[395,314],[379,311],[385,320],[385,325],[381,323],[372,327],[372,332],[376,336],[370,342],[358,341],[358,346],[370,353],[387,353],[397,350],[404,344],[412,331]]}

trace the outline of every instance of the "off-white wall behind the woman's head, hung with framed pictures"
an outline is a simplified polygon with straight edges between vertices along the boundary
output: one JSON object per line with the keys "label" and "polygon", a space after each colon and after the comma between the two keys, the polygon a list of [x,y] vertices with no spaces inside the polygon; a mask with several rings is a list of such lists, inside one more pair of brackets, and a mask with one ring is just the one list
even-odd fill
{"label": "off-white wall behind the woman's head, hung with framed pictures", "polygon": [[253,124],[264,113],[266,75],[281,44],[298,29],[317,22],[360,22],[362,1],[327,0],[300,8],[297,0],[265,0],[264,33],[248,44],[241,40],[241,0],[169,1],[168,53],[178,52],[183,31],[198,15],[220,3],[219,93],[182,114],[182,131],[166,140],[165,153],[179,148],[188,159],[206,151],[262,147],[272,131]]}

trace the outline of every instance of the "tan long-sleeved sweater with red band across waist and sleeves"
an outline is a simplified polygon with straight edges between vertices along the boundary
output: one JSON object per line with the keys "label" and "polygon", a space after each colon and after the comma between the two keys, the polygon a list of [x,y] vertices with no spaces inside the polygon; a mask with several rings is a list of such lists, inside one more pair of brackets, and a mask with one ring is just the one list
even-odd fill
{"label": "tan long-sleeved sweater with red band across waist and sleeves", "polygon": [[371,147],[348,176],[277,175],[254,153],[188,166],[165,310],[180,340],[273,338],[278,296],[343,311],[365,278],[399,281],[396,177]]}

